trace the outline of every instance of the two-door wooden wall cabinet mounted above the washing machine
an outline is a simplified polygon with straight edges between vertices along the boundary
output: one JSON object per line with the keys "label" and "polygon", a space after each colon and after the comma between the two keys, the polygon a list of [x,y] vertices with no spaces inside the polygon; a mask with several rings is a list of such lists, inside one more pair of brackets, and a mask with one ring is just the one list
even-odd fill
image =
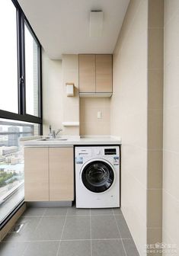
{"label": "two-door wooden wall cabinet mounted above the washing machine", "polygon": [[112,88],[112,55],[79,55],[79,95],[110,97]]}

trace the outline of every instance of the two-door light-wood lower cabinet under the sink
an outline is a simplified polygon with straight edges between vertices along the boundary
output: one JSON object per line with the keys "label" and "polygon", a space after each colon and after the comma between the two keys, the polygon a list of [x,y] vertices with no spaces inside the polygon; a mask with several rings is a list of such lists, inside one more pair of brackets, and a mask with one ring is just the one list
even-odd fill
{"label": "two-door light-wood lower cabinet under the sink", "polygon": [[74,200],[73,148],[24,149],[25,201]]}

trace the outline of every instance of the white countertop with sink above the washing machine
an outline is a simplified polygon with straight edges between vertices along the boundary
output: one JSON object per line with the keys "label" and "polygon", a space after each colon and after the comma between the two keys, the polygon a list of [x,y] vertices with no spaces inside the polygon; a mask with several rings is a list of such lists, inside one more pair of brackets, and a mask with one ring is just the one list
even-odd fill
{"label": "white countertop with sink above the washing machine", "polygon": [[[74,145],[113,145],[121,144],[120,137],[113,136],[88,136],[88,137],[78,137],[78,136],[62,136],[53,140],[42,140],[30,139],[24,141],[24,146],[74,146]],[[66,139],[66,140],[58,140]]]}

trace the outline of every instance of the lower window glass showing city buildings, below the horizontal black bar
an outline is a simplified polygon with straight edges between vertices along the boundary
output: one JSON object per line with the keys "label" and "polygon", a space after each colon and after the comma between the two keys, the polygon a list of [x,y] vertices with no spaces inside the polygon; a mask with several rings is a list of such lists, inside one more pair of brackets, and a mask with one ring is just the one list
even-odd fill
{"label": "lower window glass showing city buildings, below the horizontal black bar", "polygon": [[39,124],[0,119],[0,222],[24,199],[24,142]]}

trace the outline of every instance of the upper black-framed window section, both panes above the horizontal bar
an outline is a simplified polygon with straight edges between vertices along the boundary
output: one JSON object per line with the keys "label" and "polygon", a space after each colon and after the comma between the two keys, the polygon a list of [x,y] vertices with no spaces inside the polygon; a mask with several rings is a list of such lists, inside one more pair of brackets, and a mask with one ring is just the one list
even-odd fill
{"label": "upper black-framed window section, both panes above the horizontal bar", "polygon": [[2,0],[0,21],[0,117],[42,123],[40,43],[17,0]]}

